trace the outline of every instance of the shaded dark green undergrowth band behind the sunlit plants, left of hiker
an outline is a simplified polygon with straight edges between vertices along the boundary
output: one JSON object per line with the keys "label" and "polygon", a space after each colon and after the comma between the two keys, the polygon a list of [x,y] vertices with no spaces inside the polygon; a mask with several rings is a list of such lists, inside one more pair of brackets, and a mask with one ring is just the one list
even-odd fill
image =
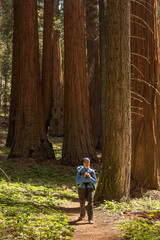
{"label": "shaded dark green undergrowth band behind the sunlit plants, left of hiker", "polygon": [[[23,164],[23,163],[22,163]],[[66,185],[73,188],[75,187],[75,169],[66,168],[57,165],[38,165],[38,164],[27,164],[27,167],[20,167],[18,163],[12,163],[9,161],[1,164],[1,168],[6,172],[11,181],[16,182],[29,182],[36,184],[47,184],[47,186],[52,186],[52,184]],[[1,173],[0,173],[1,177]],[[36,181],[35,181],[36,180]]]}

